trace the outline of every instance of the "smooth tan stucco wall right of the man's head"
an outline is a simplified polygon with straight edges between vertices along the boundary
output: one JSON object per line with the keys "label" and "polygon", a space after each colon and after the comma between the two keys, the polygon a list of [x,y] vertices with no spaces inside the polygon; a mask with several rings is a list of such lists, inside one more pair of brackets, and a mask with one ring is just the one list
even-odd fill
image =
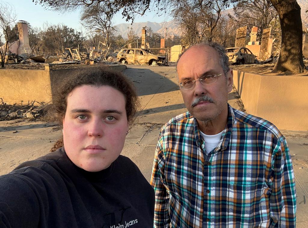
{"label": "smooth tan stucco wall right of the man's head", "polygon": [[247,113],[279,129],[308,130],[308,76],[265,76],[233,71]]}

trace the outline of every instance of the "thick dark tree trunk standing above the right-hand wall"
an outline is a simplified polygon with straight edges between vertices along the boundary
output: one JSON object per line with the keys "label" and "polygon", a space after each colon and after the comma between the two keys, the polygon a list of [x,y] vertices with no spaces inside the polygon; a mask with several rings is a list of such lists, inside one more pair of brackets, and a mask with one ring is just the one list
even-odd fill
{"label": "thick dark tree trunk standing above the right-hand wall", "polygon": [[296,0],[271,0],[278,12],[281,25],[281,51],[272,72],[305,70],[302,52],[301,8]]}

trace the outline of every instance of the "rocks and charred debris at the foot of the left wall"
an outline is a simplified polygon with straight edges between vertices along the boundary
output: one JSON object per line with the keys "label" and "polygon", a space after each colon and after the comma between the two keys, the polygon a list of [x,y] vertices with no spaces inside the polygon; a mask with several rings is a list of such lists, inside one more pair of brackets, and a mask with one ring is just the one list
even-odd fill
{"label": "rocks and charred debris at the foot of the left wall", "polygon": [[[2,99],[1,99],[2,100]],[[49,105],[34,106],[31,105],[7,105],[0,100],[0,121],[13,120],[21,118],[39,118],[47,114]],[[1,104],[2,103],[2,104]]]}

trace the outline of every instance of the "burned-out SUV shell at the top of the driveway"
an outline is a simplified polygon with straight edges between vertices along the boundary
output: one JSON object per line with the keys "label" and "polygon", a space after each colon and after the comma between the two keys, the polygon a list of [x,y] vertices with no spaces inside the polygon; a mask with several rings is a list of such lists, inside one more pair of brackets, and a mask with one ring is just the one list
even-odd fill
{"label": "burned-out SUV shell at the top of the driveway", "polygon": [[140,48],[124,48],[117,54],[117,60],[123,64],[148,64],[155,66],[164,64],[166,57],[152,54]]}

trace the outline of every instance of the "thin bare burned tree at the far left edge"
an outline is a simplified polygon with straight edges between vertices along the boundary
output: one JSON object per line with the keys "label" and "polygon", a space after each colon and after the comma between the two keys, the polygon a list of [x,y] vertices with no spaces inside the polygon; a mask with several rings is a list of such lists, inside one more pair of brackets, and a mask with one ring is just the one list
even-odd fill
{"label": "thin bare burned tree at the far left edge", "polygon": [[12,7],[4,2],[0,2],[0,59],[1,67],[4,68],[5,55],[11,46],[11,42],[16,37],[14,28],[16,16]]}

